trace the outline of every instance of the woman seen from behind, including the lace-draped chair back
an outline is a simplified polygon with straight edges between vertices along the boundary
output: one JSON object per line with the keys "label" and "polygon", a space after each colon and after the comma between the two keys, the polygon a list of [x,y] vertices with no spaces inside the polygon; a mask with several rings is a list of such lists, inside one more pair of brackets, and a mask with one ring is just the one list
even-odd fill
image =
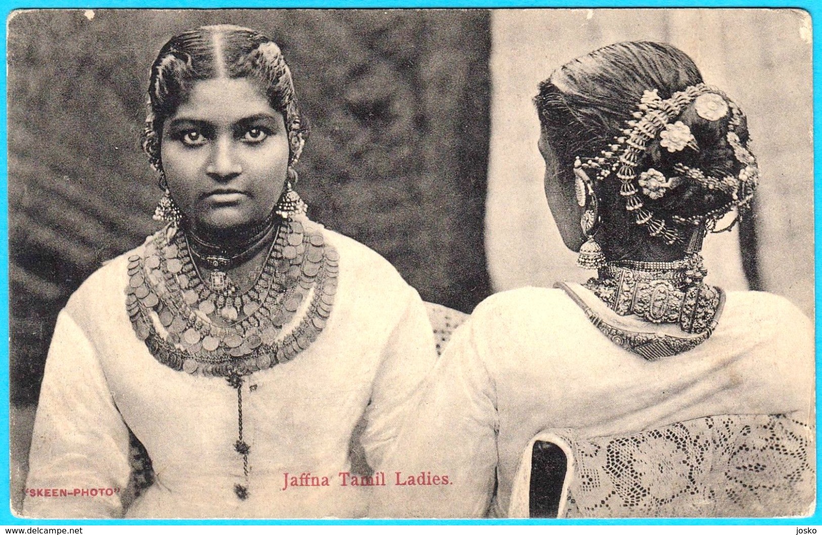
{"label": "woman seen from behind, including the lace-draped chair back", "polygon": [[700,257],[759,180],[741,109],[657,43],[575,59],[535,102],[548,204],[597,275],[477,307],[383,464],[448,484],[371,514],[810,513],[813,326],[709,284]]}

